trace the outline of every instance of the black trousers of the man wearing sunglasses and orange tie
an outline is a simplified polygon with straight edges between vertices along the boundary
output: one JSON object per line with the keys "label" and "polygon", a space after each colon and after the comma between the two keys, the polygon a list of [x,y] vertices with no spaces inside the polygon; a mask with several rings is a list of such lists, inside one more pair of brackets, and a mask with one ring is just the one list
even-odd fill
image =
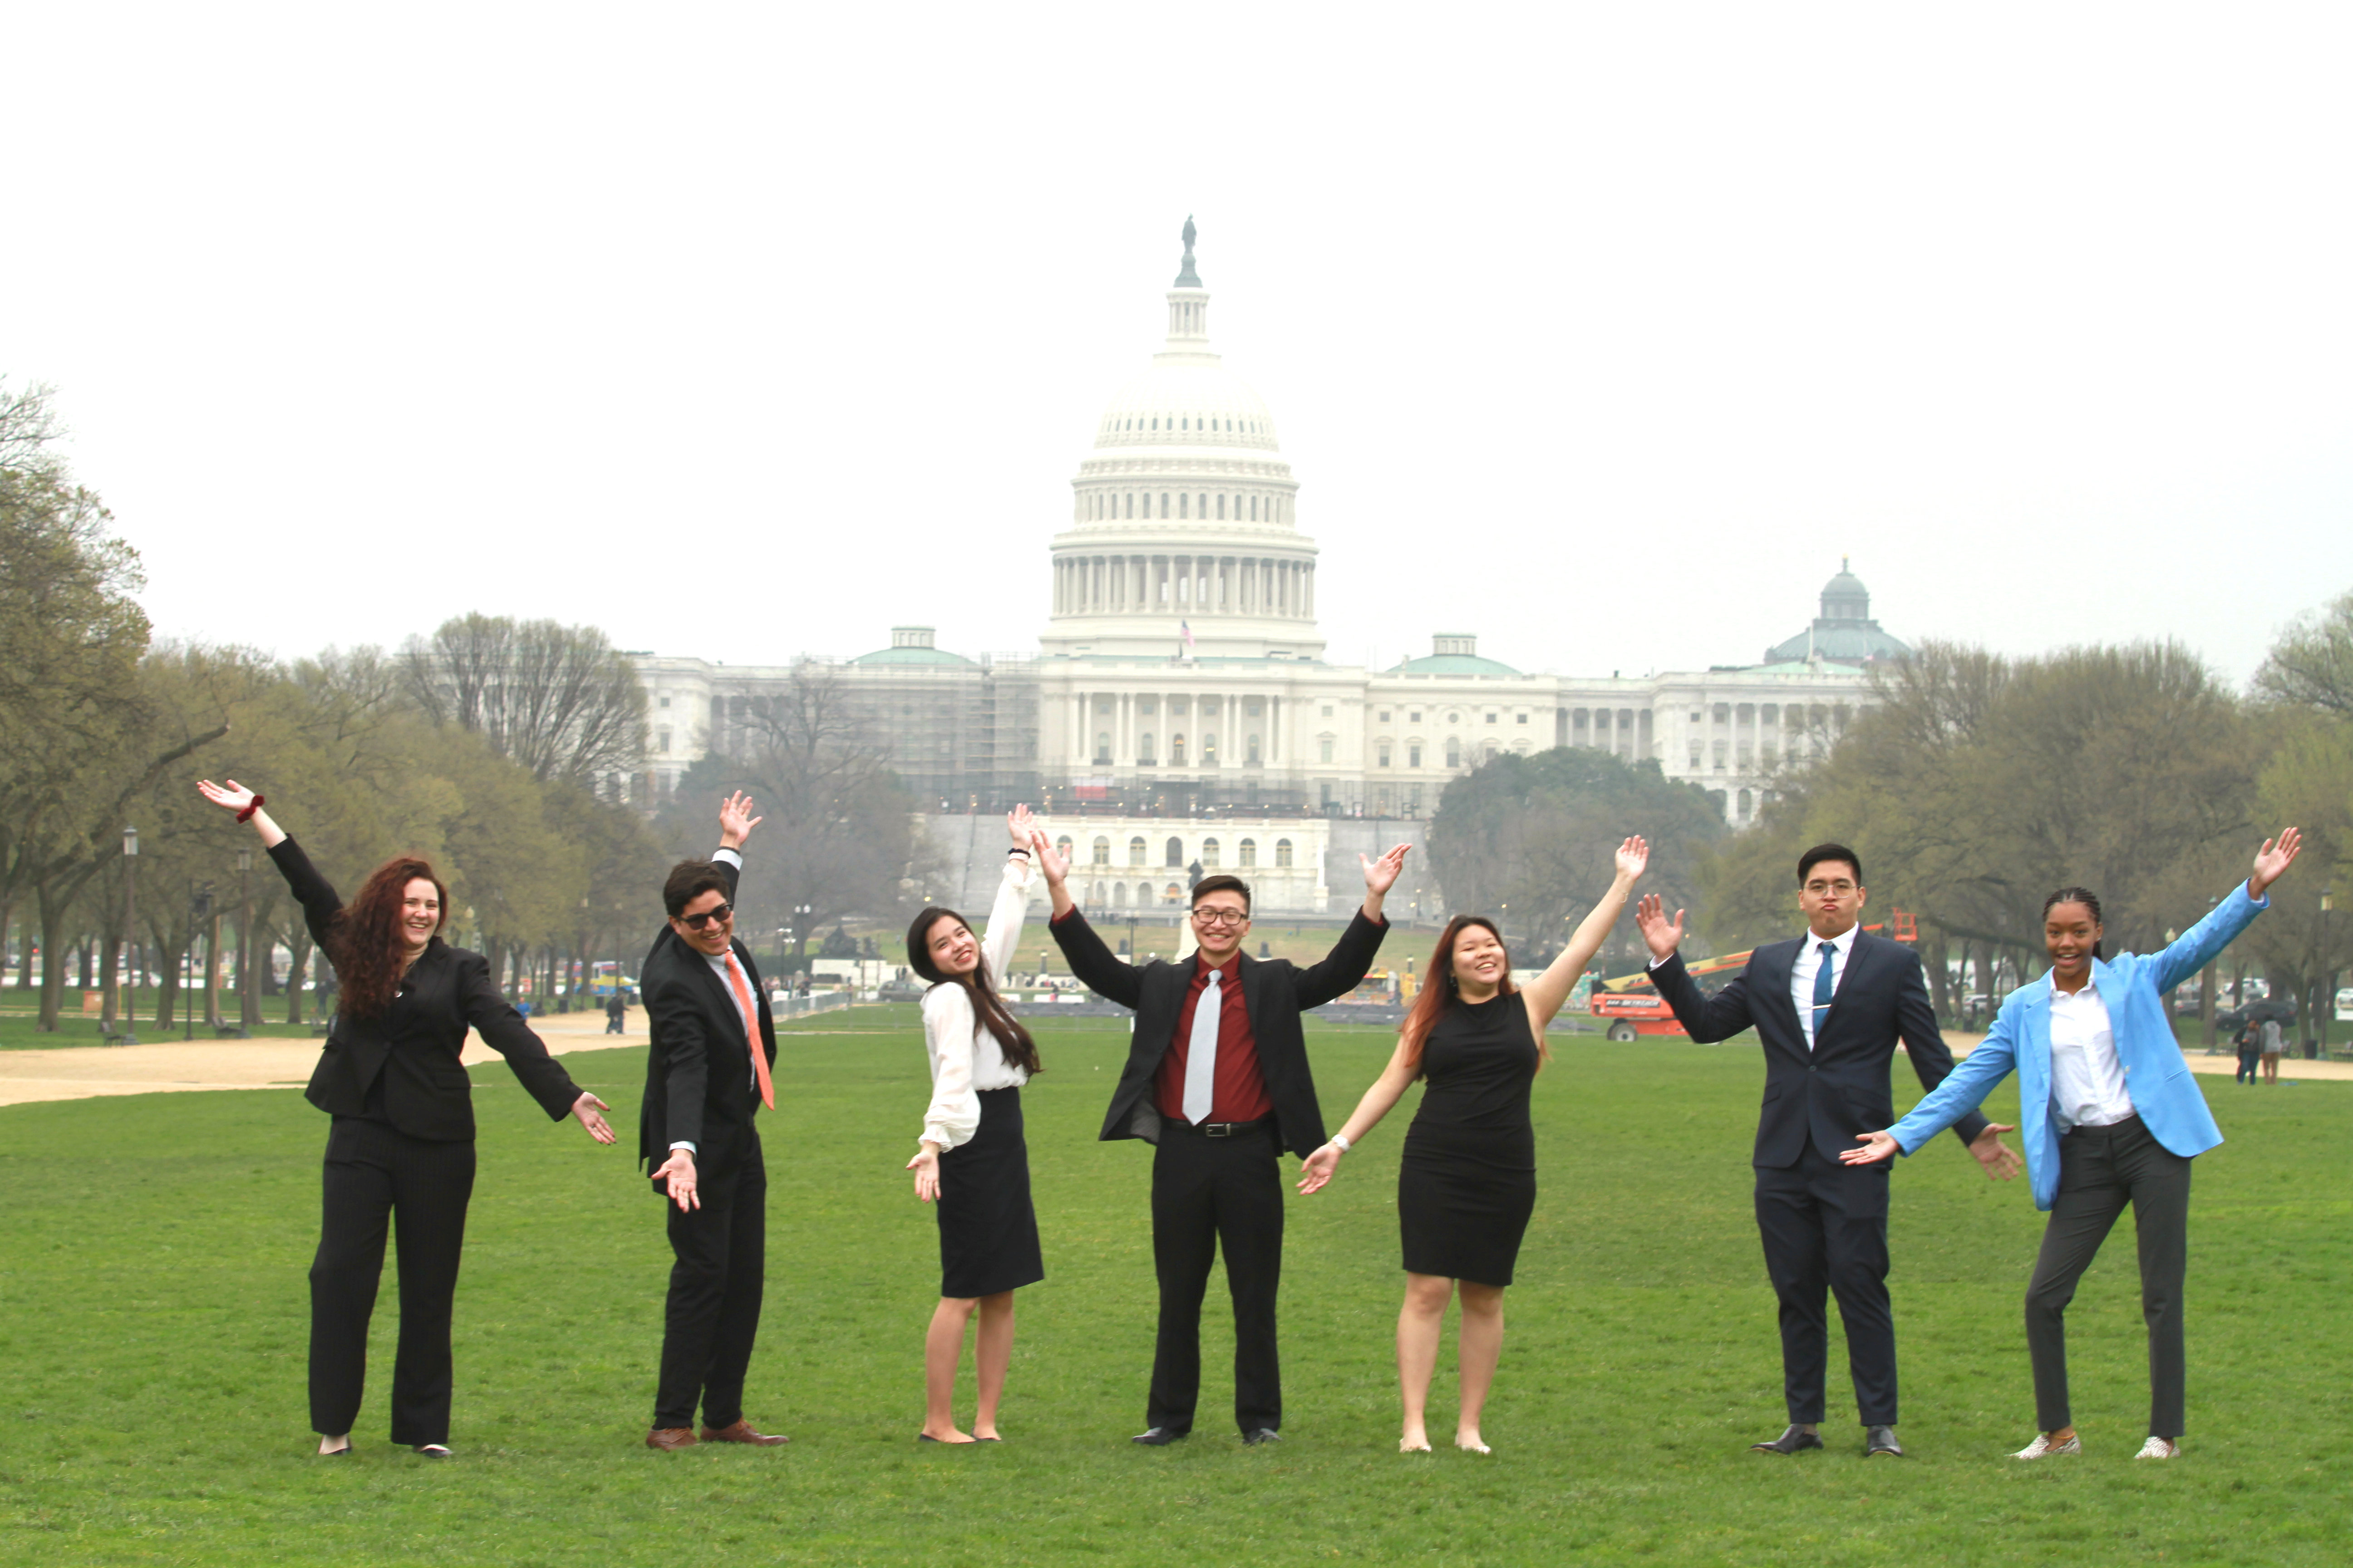
{"label": "black trousers of the man wearing sunglasses and orange tie", "polygon": [[744,1420],[744,1373],[760,1335],[767,1284],[767,1164],[760,1135],[744,1128],[744,1161],[725,1182],[704,1187],[704,1206],[671,1215],[671,1298],[661,1328],[661,1387],[654,1427],[706,1427]]}

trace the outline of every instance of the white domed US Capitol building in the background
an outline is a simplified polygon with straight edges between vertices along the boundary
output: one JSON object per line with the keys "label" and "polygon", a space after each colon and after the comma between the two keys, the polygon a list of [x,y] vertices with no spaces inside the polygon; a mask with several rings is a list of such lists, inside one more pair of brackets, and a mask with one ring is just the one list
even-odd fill
{"label": "white domed US Capitol building in the background", "polygon": [[[1165,907],[1202,865],[1249,875],[1268,910],[1322,912],[1360,891],[1355,839],[1419,837],[1447,780],[1499,752],[1654,759],[1746,823],[1784,766],[1871,703],[1868,665],[1908,651],[1840,562],[1814,623],[1755,665],[1527,675],[1480,656],[1468,630],[1391,670],[1325,663],[1299,480],[1268,407],[1209,348],[1193,233],[1188,221],[1167,341],[1111,397],[1071,482],[1038,654],[967,658],[925,625],[845,661],[640,654],[652,755],[635,792],[741,750],[795,677],[831,682],[934,802],[934,837],[960,844],[955,820],[1031,802],[1071,839],[1094,907]],[[1365,818],[1405,820],[1344,827]]]}

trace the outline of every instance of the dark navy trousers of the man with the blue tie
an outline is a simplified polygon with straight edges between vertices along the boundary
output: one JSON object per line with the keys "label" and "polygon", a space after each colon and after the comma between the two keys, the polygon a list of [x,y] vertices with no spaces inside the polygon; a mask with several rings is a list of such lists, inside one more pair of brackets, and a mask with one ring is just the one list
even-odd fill
{"label": "dark navy trousers of the man with the blue tie", "polygon": [[1887,1307],[1887,1166],[1847,1166],[1812,1143],[1795,1166],[1758,1168],[1758,1234],[1781,1298],[1781,1394],[1793,1422],[1824,1418],[1828,1293],[1847,1326],[1847,1371],[1866,1427],[1897,1425],[1897,1319]]}

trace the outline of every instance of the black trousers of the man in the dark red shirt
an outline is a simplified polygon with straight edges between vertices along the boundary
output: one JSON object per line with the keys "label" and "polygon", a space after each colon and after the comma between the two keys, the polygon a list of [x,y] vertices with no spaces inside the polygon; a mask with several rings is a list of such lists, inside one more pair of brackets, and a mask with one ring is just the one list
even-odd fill
{"label": "black trousers of the man in the dark red shirt", "polygon": [[1193,1429],[1200,1403],[1200,1300],[1226,1248],[1233,1295],[1233,1420],[1282,1429],[1275,1288],[1282,1284],[1282,1166],[1273,1119],[1233,1138],[1165,1121],[1153,1154],[1153,1269],[1160,1335],[1146,1427]]}

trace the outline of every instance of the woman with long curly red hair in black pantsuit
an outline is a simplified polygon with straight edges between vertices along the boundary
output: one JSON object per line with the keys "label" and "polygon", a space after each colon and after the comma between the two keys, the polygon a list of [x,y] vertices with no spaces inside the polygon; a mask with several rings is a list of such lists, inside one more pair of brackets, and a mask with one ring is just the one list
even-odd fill
{"label": "woman with long curly red hair in black pantsuit", "polygon": [[231,778],[195,785],[261,835],[294,889],[313,940],[344,987],[308,1098],[334,1117],[325,1211],[311,1262],[311,1427],[318,1450],[351,1453],[367,1378],[367,1319],[384,1276],[386,1222],[398,1218],[400,1352],[393,1441],[449,1455],[449,1302],[473,1197],[473,1081],[459,1063],[466,1030],[506,1058],[551,1119],[576,1117],[612,1143],[602,1100],[548,1056],[499,994],[489,961],[440,938],[449,889],[426,860],[386,860],[348,905],[301,846]]}

